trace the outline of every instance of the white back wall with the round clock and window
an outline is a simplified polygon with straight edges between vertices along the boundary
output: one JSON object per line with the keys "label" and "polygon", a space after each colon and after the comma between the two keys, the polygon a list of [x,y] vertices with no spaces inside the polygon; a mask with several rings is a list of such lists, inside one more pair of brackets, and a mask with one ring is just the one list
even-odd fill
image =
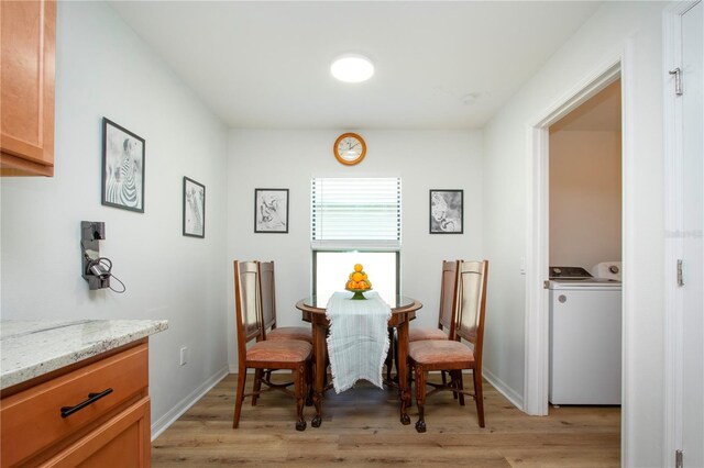
{"label": "white back wall with the round clock and window", "polygon": [[[310,179],[400,176],[402,292],[424,303],[411,326],[435,326],[442,260],[484,256],[480,223],[483,210],[481,132],[358,130],[366,141],[366,157],[358,166],[346,167],[332,155],[332,145],[344,131],[230,132],[229,258],[275,260],[279,325],[300,324],[300,313],[294,305],[310,292],[312,275]],[[288,234],[254,234],[255,188],[290,190]],[[428,233],[430,189],[464,190],[464,234]],[[228,292],[232,304],[232,286]],[[230,330],[234,330],[234,312],[230,324]],[[231,334],[229,356],[231,365],[237,367],[235,345]]]}

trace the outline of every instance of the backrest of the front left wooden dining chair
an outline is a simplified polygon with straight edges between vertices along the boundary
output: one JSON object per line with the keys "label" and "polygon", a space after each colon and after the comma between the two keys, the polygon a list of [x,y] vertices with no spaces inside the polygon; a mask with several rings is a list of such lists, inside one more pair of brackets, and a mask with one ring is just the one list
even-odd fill
{"label": "backrest of the front left wooden dining chair", "polygon": [[256,261],[234,260],[234,304],[238,322],[238,352],[246,356],[246,344],[262,337],[260,281]]}

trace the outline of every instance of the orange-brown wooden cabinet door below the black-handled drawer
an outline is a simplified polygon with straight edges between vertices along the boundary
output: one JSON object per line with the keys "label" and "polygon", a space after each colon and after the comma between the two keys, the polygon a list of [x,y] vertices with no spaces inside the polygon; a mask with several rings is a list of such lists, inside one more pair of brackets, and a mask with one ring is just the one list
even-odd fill
{"label": "orange-brown wooden cabinet door below the black-handled drawer", "polygon": [[145,397],[42,466],[151,467],[150,424],[150,398]]}

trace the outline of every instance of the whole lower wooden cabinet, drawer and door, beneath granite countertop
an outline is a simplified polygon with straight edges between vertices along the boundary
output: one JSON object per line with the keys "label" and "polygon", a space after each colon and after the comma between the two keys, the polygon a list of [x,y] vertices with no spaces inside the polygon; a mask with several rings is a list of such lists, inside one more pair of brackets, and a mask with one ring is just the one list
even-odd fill
{"label": "whole lower wooden cabinet, drawer and door, beneath granite countertop", "polygon": [[151,466],[146,341],[31,383],[2,393],[2,467]]}

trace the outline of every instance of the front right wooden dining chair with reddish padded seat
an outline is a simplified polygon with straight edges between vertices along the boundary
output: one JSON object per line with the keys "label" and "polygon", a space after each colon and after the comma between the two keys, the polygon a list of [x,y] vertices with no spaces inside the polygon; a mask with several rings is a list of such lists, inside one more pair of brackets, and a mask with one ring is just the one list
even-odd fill
{"label": "front right wooden dining chair with reddish padded seat", "polygon": [[[426,432],[426,399],[439,391],[449,390],[464,405],[464,395],[476,402],[480,427],[484,427],[484,397],[482,391],[482,347],[484,342],[484,315],[486,310],[486,279],[488,260],[460,261],[455,288],[455,334],[459,339],[425,339],[408,344],[408,364],[416,378],[418,422],[416,431]],[[474,393],[464,390],[462,370],[472,369]],[[427,375],[431,370],[449,371],[451,381],[433,383],[428,391]]]}

